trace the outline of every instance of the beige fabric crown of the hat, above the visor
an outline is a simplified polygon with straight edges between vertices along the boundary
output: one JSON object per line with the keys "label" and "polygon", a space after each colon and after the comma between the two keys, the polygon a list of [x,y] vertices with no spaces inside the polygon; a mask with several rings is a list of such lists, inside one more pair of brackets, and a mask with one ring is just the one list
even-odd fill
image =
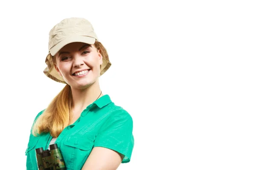
{"label": "beige fabric crown of the hat, above the visor", "polygon": [[72,36],[93,37],[98,40],[92,24],[88,20],[78,17],[66,18],[49,32],[48,49],[50,50],[62,40]]}

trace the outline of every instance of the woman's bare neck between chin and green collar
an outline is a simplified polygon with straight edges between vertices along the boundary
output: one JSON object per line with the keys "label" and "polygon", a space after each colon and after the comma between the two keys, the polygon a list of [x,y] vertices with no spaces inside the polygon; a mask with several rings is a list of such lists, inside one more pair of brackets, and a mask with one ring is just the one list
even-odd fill
{"label": "woman's bare neck between chin and green collar", "polygon": [[[98,97],[103,96],[99,87],[99,80],[85,89],[74,89],[71,87],[74,110],[84,110],[93,103]],[[101,95],[100,95],[101,94]],[[100,96],[99,96],[100,95]]]}

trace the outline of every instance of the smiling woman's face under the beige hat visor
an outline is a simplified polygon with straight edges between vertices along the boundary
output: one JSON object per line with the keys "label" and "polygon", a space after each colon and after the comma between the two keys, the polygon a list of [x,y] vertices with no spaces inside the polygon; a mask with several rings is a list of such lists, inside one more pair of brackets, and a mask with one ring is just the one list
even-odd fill
{"label": "smiling woman's face under the beige hat visor", "polygon": [[58,51],[55,59],[58,74],[73,88],[87,88],[99,78],[102,55],[94,45],[67,44]]}

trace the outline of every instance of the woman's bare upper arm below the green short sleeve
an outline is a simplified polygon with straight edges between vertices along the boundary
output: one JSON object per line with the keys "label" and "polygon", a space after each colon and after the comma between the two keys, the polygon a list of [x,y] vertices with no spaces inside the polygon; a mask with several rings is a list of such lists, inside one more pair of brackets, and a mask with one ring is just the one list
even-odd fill
{"label": "woman's bare upper arm below the green short sleeve", "polygon": [[124,156],[105,147],[94,147],[82,170],[116,170]]}

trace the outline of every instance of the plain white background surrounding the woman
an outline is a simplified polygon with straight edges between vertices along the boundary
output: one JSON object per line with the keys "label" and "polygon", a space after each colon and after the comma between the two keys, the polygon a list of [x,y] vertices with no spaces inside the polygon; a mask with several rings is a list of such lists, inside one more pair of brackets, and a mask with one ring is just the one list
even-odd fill
{"label": "plain white background surrounding the woman", "polygon": [[32,122],[64,87],[43,74],[50,29],[84,17],[112,62],[102,91],[134,120],[131,162],[118,170],[255,170],[255,8],[253,0],[1,2],[0,169],[26,169]]}

